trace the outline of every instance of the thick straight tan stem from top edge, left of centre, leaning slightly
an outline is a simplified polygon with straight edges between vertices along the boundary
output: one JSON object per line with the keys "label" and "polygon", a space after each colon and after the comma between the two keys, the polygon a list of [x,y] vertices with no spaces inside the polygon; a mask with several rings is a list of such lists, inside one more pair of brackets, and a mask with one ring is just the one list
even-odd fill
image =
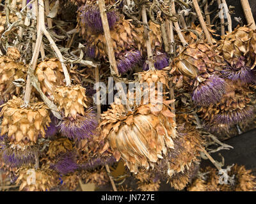
{"label": "thick straight tan stem from top edge, left of centre, leaning slightly", "polygon": [[102,20],[102,25],[103,25],[103,30],[104,30],[104,37],[105,37],[106,44],[108,47],[108,58],[109,58],[109,63],[110,63],[111,75],[119,77],[104,0],[99,0],[99,10],[100,10],[100,17]]}

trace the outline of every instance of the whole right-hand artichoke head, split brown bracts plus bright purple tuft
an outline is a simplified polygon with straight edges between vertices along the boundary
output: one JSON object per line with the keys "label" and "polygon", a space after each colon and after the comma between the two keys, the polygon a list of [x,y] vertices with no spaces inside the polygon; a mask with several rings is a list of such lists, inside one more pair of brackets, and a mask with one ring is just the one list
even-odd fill
{"label": "whole right-hand artichoke head, split brown bracts plus bright purple tuft", "polygon": [[225,80],[220,78],[221,57],[205,43],[193,43],[180,51],[171,64],[172,80],[177,88],[192,92],[198,106],[208,106],[221,100]]}

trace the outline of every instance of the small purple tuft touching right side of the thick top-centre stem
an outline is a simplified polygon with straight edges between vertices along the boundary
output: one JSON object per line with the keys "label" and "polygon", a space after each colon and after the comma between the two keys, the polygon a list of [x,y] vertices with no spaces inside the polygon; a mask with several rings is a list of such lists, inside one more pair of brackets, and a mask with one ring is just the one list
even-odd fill
{"label": "small purple tuft touching right side of the thick top-centre stem", "polygon": [[131,70],[136,64],[141,61],[140,51],[127,51],[122,57],[119,57],[117,61],[117,68],[119,73],[125,73]]}

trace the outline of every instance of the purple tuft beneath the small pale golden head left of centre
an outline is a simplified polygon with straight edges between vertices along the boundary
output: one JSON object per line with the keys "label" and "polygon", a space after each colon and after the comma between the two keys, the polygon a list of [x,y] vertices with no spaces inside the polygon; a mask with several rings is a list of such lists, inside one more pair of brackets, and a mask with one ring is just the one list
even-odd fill
{"label": "purple tuft beneath the small pale golden head left of centre", "polygon": [[84,116],[77,115],[76,119],[65,118],[61,121],[61,135],[72,140],[83,140],[93,136],[93,131],[97,128],[97,115],[88,110]]}

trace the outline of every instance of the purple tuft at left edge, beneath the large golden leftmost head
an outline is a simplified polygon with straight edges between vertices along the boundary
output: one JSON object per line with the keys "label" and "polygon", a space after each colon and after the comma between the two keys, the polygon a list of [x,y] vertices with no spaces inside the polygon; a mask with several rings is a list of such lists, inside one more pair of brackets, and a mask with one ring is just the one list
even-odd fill
{"label": "purple tuft at left edge, beneath the large golden leftmost head", "polygon": [[10,147],[3,147],[3,161],[10,165],[11,168],[20,168],[23,165],[35,164],[35,157],[38,154],[38,149],[35,147],[21,150]]}

